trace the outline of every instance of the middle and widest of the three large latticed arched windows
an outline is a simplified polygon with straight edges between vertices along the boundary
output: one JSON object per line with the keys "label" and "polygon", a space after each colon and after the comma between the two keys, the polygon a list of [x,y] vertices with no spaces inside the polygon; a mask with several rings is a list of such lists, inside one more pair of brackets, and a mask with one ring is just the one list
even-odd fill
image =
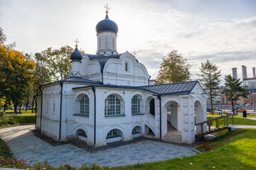
{"label": "middle and widest of the three large latticed arched windows", "polygon": [[105,115],[120,115],[121,102],[117,96],[110,95],[105,99]]}

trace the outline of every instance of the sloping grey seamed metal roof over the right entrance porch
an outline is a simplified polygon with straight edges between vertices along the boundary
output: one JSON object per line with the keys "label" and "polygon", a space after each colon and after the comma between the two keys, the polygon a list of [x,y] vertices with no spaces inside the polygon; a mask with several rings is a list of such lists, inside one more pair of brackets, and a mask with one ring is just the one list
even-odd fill
{"label": "sloping grey seamed metal roof over the right entrance porch", "polygon": [[151,86],[139,86],[139,89],[151,91],[156,94],[190,94],[198,81],[186,81],[173,84],[157,84]]}

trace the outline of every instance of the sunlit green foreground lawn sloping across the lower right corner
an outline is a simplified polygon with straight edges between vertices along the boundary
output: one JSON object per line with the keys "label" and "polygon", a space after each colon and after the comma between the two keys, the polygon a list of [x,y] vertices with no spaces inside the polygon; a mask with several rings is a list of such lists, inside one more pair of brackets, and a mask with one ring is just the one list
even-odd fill
{"label": "sunlit green foreground lawn sloping across the lower right corner", "polygon": [[[256,169],[256,129],[226,130],[219,135],[197,148],[203,154],[112,169]],[[204,152],[206,148],[211,149]]]}

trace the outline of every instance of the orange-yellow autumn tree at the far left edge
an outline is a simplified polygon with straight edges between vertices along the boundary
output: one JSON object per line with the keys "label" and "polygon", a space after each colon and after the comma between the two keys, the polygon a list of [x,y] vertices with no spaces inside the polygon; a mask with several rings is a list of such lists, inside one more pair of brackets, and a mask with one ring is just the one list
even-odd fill
{"label": "orange-yellow autumn tree at the far left edge", "polygon": [[35,63],[21,52],[0,45],[0,98],[14,103],[14,112],[29,96],[34,80]]}

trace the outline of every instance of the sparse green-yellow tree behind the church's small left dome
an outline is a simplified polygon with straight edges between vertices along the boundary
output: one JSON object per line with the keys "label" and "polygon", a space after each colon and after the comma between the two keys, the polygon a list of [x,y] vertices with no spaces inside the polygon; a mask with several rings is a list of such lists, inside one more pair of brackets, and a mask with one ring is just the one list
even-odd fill
{"label": "sparse green-yellow tree behind the church's small left dome", "polygon": [[70,54],[73,50],[68,45],[60,47],[60,50],[53,50],[49,47],[47,50],[42,51],[42,55],[38,59],[46,65],[53,79],[59,81],[68,77],[68,72],[71,68]]}

